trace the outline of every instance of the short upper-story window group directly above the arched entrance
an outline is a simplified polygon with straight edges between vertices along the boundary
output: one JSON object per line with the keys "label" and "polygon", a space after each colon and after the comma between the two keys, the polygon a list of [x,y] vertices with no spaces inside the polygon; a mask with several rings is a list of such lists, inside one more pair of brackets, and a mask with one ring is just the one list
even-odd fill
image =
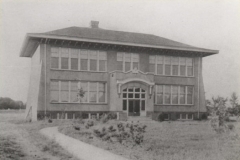
{"label": "short upper-story window group directly above the arched entrance", "polygon": [[134,68],[139,69],[139,55],[136,53],[117,53],[117,70],[130,71]]}

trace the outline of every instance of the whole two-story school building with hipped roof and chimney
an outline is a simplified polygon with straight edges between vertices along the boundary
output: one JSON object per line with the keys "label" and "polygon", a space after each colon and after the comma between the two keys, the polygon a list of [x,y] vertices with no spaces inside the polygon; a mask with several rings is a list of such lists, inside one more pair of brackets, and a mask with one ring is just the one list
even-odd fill
{"label": "whole two-story school building with hipped roof and chimney", "polygon": [[202,58],[216,53],[101,29],[96,21],[90,28],[29,33],[20,53],[32,58],[26,115],[72,119],[117,112],[120,119],[155,119],[161,112],[170,120],[196,119],[206,112]]}

